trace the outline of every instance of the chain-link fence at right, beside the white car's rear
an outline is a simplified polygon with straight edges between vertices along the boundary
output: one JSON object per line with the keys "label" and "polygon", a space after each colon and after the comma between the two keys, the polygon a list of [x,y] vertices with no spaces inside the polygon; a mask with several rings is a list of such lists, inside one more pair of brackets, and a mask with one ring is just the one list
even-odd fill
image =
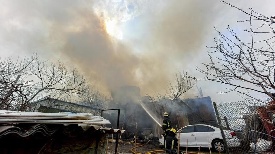
{"label": "chain-link fence at right, beside the white car's rear", "polygon": [[275,110],[268,110],[267,103],[239,101],[213,105],[223,138],[228,138],[228,130],[237,137],[226,139],[227,153],[275,153]]}

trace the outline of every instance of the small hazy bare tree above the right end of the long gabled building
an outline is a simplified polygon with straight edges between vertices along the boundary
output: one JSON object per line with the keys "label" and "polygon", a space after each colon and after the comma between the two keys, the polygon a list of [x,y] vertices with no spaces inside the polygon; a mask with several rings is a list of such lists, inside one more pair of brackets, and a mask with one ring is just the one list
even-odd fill
{"label": "small hazy bare tree above the right end of the long gabled building", "polygon": [[98,89],[89,86],[85,91],[79,94],[80,102],[78,104],[84,104],[99,111],[107,108],[106,104],[110,101],[110,98],[100,93]]}

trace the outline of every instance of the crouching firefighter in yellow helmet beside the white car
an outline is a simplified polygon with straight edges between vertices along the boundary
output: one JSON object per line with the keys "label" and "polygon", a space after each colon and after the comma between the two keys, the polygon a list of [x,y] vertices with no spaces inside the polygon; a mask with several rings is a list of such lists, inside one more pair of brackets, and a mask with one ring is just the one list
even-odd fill
{"label": "crouching firefighter in yellow helmet beside the white car", "polygon": [[[178,152],[178,138],[176,137],[176,130],[174,128],[170,130],[164,145],[166,154],[176,154]],[[180,151],[180,154],[183,154],[183,152]]]}

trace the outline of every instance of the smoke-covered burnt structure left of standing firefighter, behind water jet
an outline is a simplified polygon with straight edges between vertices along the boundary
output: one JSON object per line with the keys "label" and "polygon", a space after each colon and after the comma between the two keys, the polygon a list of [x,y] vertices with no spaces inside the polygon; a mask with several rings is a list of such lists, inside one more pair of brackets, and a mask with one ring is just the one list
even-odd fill
{"label": "smoke-covered burnt structure left of standing firefighter, behind water jet", "polygon": [[[150,130],[153,127],[154,121],[151,117],[143,110],[139,105],[140,89],[137,86],[122,86],[114,89],[111,92],[113,98],[109,102],[110,109],[120,109],[120,119],[119,128],[126,130],[123,133],[123,138],[133,138],[135,132],[135,121],[138,124],[137,132],[148,132],[152,133]],[[104,112],[103,117],[110,120],[112,124],[116,124],[117,121],[117,111],[114,112]],[[108,127],[117,128],[117,125],[107,125]],[[148,131],[149,129],[149,131]],[[149,136],[149,134],[147,135]]]}

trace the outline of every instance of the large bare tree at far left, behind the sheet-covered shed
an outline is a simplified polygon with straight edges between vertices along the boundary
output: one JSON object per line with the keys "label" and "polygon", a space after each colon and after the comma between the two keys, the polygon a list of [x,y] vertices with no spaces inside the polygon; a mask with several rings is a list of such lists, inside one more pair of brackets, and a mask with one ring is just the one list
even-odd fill
{"label": "large bare tree at far left, behind the sheet-covered shed", "polygon": [[0,108],[19,110],[33,108],[30,102],[45,96],[67,99],[86,89],[86,79],[64,63],[40,61],[37,55],[15,61],[0,59]]}

